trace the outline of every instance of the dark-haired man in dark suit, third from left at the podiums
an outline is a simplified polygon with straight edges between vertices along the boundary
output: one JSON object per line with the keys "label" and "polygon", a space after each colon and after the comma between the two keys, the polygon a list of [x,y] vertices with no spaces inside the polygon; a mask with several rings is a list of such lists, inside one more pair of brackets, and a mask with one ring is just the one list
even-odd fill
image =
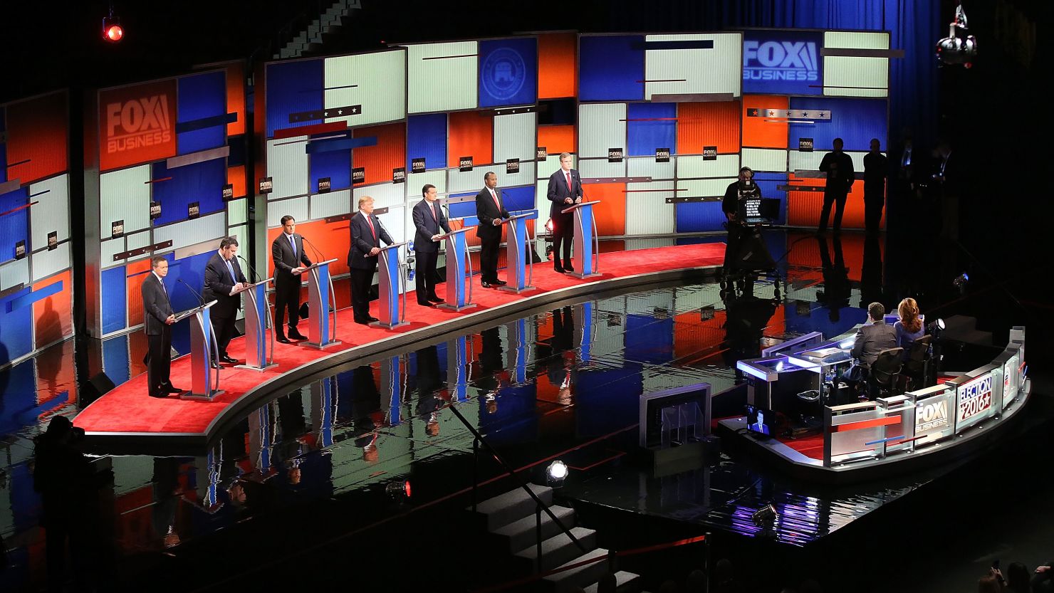
{"label": "dark-haired man in dark suit, third from left at the podiums", "polygon": [[[271,258],[274,260],[274,333],[281,343],[290,339],[306,340],[307,336],[296,331],[296,322],[300,320],[300,273],[304,266],[311,265],[308,254],[304,253],[304,237],[293,231],[296,220],[289,216],[281,217],[281,234],[271,243]],[[300,265],[300,264],[304,265]],[[289,337],[286,337],[284,320],[286,310],[289,310]]]}

